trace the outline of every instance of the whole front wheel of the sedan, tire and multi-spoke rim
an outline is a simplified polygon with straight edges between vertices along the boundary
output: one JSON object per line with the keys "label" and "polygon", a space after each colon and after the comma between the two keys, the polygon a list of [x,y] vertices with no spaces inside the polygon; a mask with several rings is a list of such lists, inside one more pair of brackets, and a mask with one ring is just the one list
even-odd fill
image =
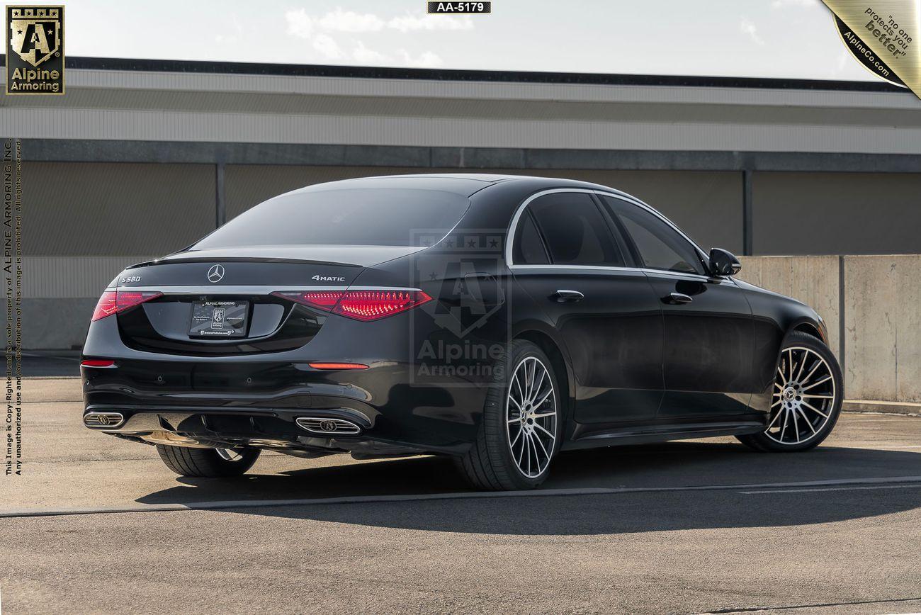
{"label": "whole front wheel of the sedan, tire and multi-spoke rim", "polygon": [[841,369],[820,340],[799,331],[780,354],[764,433],[740,437],[761,450],[803,450],[831,433],[841,412]]}

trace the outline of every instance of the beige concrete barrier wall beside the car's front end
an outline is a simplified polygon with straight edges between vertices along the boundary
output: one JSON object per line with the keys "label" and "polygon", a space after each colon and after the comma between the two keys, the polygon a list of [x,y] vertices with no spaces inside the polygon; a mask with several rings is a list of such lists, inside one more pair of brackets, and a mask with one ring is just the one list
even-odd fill
{"label": "beige concrete barrier wall beside the car's front end", "polygon": [[740,261],[741,279],[797,298],[825,319],[847,399],[921,402],[921,255]]}

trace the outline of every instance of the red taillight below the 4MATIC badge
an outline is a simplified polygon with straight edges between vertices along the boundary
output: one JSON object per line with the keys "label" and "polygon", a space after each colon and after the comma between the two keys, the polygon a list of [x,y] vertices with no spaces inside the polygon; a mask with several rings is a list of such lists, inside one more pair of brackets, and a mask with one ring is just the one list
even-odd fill
{"label": "red taillight below the 4MATIC badge", "polygon": [[347,291],[285,291],[273,293],[311,308],[356,320],[377,320],[407,309],[418,308],[432,300],[421,290],[379,288]]}

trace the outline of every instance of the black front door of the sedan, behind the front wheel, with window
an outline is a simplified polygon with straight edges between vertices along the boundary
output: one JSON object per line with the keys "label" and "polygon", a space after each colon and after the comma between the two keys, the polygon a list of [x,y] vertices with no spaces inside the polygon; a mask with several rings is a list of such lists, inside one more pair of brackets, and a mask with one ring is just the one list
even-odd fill
{"label": "black front door of the sedan, behind the front wheel, with window", "polygon": [[674,226],[638,204],[602,196],[655,289],[665,322],[665,396],[659,418],[745,413],[752,392],[753,326],[731,278],[706,274]]}

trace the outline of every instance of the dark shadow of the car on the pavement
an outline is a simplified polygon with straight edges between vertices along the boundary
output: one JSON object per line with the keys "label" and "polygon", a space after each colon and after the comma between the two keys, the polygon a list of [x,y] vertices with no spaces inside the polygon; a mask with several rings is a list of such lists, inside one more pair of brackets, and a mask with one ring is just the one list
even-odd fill
{"label": "dark shadow of the car on the pavement", "polygon": [[[564,453],[554,460],[553,474],[544,489],[668,490],[701,485],[853,481],[913,476],[919,469],[921,454],[904,451],[819,447],[810,453],[762,455],[739,445],[673,442]],[[202,503],[466,491],[470,488],[450,459],[409,458],[249,474],[234,480],[181,479],[176,486],[137,501]],[[921,484],[915,483],[266,505],[230,510],[384,528],[585,535],[799,526],[889,515],[919,506]]]}

